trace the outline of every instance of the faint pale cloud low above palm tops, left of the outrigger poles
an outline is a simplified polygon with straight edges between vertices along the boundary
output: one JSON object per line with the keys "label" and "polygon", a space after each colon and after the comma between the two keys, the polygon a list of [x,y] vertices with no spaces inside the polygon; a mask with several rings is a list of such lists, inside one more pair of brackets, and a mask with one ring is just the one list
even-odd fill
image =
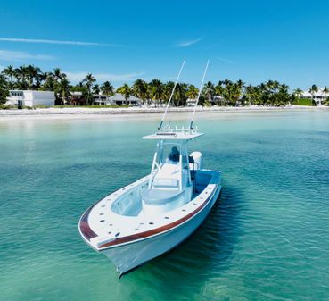
{"label": "faint pale cloud low above palm tops, left of the outrigger poles", "polygon": [[[68,78],[73,82],[81,81],[86,78],[88,72],[65,72]],[[112,74],[112,73],[92,73],[97,81],[129,81],[137,79],[144,75],[144,72]]]}

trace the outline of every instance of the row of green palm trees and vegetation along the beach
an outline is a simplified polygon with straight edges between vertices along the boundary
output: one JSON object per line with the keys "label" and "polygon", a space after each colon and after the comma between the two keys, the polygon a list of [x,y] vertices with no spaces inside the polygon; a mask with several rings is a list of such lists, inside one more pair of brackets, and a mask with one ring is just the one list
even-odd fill
{"label": "row of green palm trees and vegetation along the beach", "polygon": [[[13,67],[7,66],[0,73],[0,105],[4,104],[10,89],[33,89],[50,90],[56,97],[56,105],[75,105],[71,102],[71,93],[80,92],[83,102],[79,105],[94,105],[94,95],[102,93],[105,96],[112,96],[115,92],[121,93],[127,100],[130,96],[140,98],[144,105],[165,104],[174,87],[174,82],[162,82],[160,79],[152,79],[146,82],[143,79],[136,81],[129,86],[127,83],[121,87],[113,88],[110,81],[98,83],[91,73],[86,75],[78,84],[71,84],[67,74],[60,68],[53,71],[41,71],[40,68],[28,65]],[[314,97],[318,88],[312,85],[308,92],[312,99],[308,102],[300,99],[302,90],[296,88],[291,93],[289,87],[277,80],[268,80],[259,85],[247,85],[243,80],[232,81],[229,79],[219,80],[218,83],[208,81],[200,93],[200,105],[314,105]],[[329,96],[329,88],[325,87],[323,93]],[[193,85],[179,82],[172,95],[172,105],[191,105],[199,95],[199,88]],[[328,102],[329,104],[329,102]]]}

